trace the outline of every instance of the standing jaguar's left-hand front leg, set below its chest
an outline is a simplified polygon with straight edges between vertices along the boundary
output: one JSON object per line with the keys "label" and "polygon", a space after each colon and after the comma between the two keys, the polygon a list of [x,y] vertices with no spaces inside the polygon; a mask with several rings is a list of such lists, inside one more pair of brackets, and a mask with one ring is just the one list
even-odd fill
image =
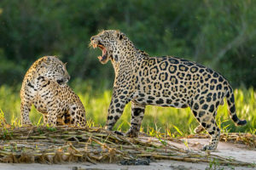
{"label": "standing jaguar's left-hand front leg, set below its chest", "polygon": [[112,130],[114,124],[119,120],[119,117],[123,114],[125,105],[130,100],[127,99],[125,93],[120,89],[113,89],[113,96],[108,107],[108,119],[106,128]]}

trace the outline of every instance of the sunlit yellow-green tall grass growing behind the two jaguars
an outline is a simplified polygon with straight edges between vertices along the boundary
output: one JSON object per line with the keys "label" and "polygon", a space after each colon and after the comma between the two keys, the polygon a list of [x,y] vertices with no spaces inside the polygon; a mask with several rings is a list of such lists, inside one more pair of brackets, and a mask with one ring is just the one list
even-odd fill
{"label": "sunlit yellow-green tall grass growing behind the two jaguars", "polygon": [[[97,84],[93,82],[74,81],[71,84],[75,93],[82,100],[87,120],[92,120],[95,125],[104,126],[108,114],[112,90],[108,89],[106,83]],[[220,105],[218,108],[218,126],[225,132],[256,132],[256,91],[253,88],[235,89],[236,111],[238,117],[247,120],[244,127],[236,127],[230,120],[227,105]],[[20,86],[11,88],[8,86],[0,87],[0,109],[3,111],[7,122],[17,122],[20,120]],[[32,123],[43,122],[42,115],[32,107],[30,118]],[[126,105],[123,116],[117,122],[115,128],[127,130],[130,127],[131,104]],[[164,108],[157,106],[146,107],[143,118],[142,130],[144,132],[152,130],[164,132],[169,129],[171,133],[177,131],[182,133],[192,133],[198,125],[190,109]]]}

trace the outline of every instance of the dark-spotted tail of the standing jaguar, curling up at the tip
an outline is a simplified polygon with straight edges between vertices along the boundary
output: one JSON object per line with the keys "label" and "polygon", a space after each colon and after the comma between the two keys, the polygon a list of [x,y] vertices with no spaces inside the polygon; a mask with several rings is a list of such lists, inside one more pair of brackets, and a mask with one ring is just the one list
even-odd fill
{"label": "dark-spotted tail of the standing jaguar, curling up at the tip", "polygon": [[247,124],[246,120],[240,120],[236,115],[235,97],[233,89],[228,85],[226,99],[229,107],[230,118],[236,123],[236,126],[243,126]]}

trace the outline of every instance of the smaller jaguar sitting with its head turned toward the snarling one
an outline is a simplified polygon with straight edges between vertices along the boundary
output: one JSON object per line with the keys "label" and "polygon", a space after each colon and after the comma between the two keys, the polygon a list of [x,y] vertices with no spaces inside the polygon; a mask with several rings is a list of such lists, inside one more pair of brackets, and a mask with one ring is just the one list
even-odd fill
{"label": "smaller jaguar sitting with its head turned toward the snarling one", "polygon": [[84,105],[67,86],[66,65],[55,56],[35,61],[22,82],[20,113],[22,125],[31,124],[32,104],[44,114],[44,125],[86,125]]}

